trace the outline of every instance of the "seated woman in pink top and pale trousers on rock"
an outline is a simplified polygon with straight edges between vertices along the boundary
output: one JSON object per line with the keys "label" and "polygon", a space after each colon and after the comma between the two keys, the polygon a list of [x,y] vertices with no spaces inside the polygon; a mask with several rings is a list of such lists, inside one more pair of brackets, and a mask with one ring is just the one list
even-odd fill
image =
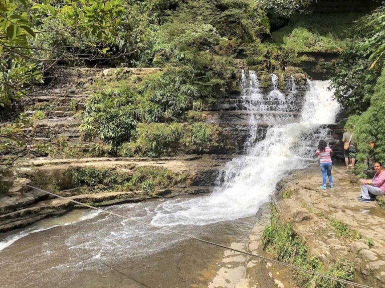
{"label": "seated woman in pink top and pale trousers on rock", "polygon": [[385,171],[382,170],[382,164],[375,162],[374,170],[375,174],[373,179],[359,179],[361,196],[357,197],[358,201],[370,202],[371,199],[375,199],[375,195],[385,195]]}

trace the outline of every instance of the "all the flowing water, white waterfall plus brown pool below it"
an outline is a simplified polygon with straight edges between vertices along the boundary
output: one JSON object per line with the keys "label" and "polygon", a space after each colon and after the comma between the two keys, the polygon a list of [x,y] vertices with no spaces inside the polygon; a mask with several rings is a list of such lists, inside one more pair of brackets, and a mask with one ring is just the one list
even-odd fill
{"label": "all the flowing water, white waterfall plus brown pool below it", "polygon": [[[230,161],[208,196],[153,200],[109,207],[114,212],[221,244],[245,241],[256,213],[288,171],[314,161],[323,124],[338,105],[327,81],[308,80],[304,98],[294,77],[289,89],[262,93],[254,71],[242,74],[242,99],[250,111],[247,153]],[[300,106],[299,106],[300,105]],[[268,126],[266,136],[257,129]],[[207,286],[223,250],[96,211],[62,217],[0,235],[2,287]],[[231,285],[230,285],[231,286]]]}

